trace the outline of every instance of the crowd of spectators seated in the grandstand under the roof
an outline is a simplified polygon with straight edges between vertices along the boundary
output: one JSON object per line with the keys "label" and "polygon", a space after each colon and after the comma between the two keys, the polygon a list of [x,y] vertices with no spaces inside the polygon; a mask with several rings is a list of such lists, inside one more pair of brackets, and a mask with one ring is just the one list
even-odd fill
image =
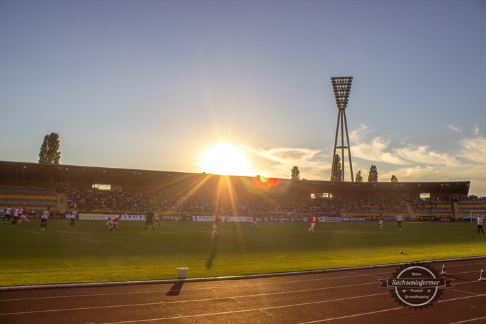
{"label": "crowd of spectators seated in the grandstand under the roof", "polygon": [[68,189],[68,209],[78,211],[175,211],[186,213],[216,212],[228,215],[248,213],[328,213],[346,211],[378,211],[403,213],[407,210],[401,199],[298,198],[288,196],[242,195],[220,196],[207,193],[177,195],[166,191],[124,191],[99,189]]}

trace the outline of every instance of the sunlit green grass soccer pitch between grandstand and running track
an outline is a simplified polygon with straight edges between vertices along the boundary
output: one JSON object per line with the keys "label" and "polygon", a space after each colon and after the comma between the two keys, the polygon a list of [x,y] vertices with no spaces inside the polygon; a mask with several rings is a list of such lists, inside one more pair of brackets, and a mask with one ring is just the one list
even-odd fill
{"label": "sunlit green grass soccer pitch between grandstand and running track", "polygon": [[[121,221],[106,231],[106,221],[39,220],[17,227],[0,225],[0,286],[261,274],[282,271],[378,265],[440,258],[484,256],[486,237],[471,223],[161,222],[144,232],[145,222]],[[400,254],[403,251],[404,254]]]}

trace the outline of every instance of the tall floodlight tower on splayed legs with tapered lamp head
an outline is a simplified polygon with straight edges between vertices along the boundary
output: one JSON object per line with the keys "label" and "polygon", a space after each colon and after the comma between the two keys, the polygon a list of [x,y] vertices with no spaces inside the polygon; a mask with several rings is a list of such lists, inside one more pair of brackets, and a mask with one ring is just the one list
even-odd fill
{"label": "tall floodlight tower on splayed legs with tapered lamp head", "polygon": [[[336,155],[336,149],[341,149],[341,161],[342,161],[341,180],[344,181],[344,149],[347,149],[348,156],[349,156],[349,169],[351,170],[351,181],[354,182],[353,163],[351,162],[351,149],[349,145],[348,125],[346,122],[346,112],[344,111],[348,105],[349,91],[351,91],[351,82],[353,82],[353,77],[331,77],[331,82],[333,84],[334,97],[336,98],[336,105],[338,106],[338,124],[336,124],[336,139],[334,140],[331,180],[333,178],[334,156]],[[341,146],[336,146],[336,144],[338,144],[338,133],[339,133],[340,121],[341,121]],[[344,130],[346,131],[346,146],[344,146]]]}

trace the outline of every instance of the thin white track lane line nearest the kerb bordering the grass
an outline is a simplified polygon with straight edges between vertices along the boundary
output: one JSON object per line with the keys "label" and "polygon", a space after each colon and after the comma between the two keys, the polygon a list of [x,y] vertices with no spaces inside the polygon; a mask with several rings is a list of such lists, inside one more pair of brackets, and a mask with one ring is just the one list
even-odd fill
{"label": "thin white track lane line nearest the kerb bordering the grass", "polygon": [[[480,263],[483,264],[483,263]],[[476,265],[472,264],[472,265]],[[375,274],[389,274],[390,271],[384,271],[384,272],[377,272],[374,274],[358,274],[356,272],[351,272],[351,271],[346,271],[351,274],[354,274],[353,276],[339,276],[339,277],[329,277],[329,278],[317,278],[317,279],[304,279],[304,280],[287,280],[287,281],[277,281],[277,282],[271,282],[271,283],[255,283],[251,285],[227,285],[227,286],[213,286],[213,287],[201,287],[201,288],[184,288],[184,292],[191,291],[191,290],[205,290],[205,289],[226,289],[226,288],[234,288],[234,287],[253,287],[253,286],[261,286],[261,285],[280,285],[280,284],[291,284],[291,283],[304,283],[304,282],[310,282],[310,281],[318,281],[318,280],[330,280],[330,279],[340,279],[340,278],[359,278],[359,277],[373,277],[373,278],[382,278],[380,276],[373,276]],[[469,274],[472,272],[478,272],[478,271],[463,271],[463,272],[456,272],[454,274],[449,274],[448,276],[452,276],[455,274]],[[336,287],[341,287],[341,286],[336,286]],[[331,288],[331,287],[329,287]],[[182,290],[182,289],[181,289]],[[146,291],[141,291],[141,292],[110,292],[110,293],[104,293],[104,294],[79,294],[79,295],[59,295],[59,296],[43,296],[43,297],[28,297],[28,298],[10,298],[10,299],[0,299],[0,302],[3,301],[30,301],[30,300],[38,300],[38,299],[51,299],[51,298],[80,298],[80,297],[93,297],[93,296],[113,296],[113,295],[130,295],[130,294],[160,294],[160,293],[166,293],[167,289],[164,290],[146,290]],[[1,314],[0,314],[1,315]]]}

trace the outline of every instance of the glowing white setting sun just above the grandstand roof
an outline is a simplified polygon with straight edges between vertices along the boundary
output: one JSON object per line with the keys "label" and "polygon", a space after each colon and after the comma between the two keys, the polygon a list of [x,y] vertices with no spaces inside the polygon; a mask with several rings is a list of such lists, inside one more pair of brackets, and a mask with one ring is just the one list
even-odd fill
{"label": "glowing white setting sun just above the grandstand roof", "polygon": [[222,175],[251,175],[250,162],[244,151],[236,146],[220,143],[210,147],[201,158],[202,171]]}

